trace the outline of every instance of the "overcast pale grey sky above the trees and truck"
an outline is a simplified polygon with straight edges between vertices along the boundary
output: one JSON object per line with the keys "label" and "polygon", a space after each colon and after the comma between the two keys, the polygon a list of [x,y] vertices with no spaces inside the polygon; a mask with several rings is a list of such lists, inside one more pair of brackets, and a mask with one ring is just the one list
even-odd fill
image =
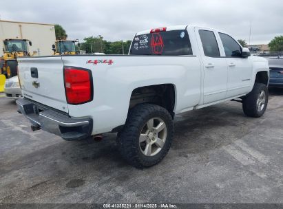
{"label": "overcast pale grey sky above the trees and truck", "polygon": [[224,30],[248,44],[283,35],[282,0],[14,0],[1,2],[0,19],[57,23],[68,39],[80,41],[98,35],[132,40],[142,30],[189,24]]}

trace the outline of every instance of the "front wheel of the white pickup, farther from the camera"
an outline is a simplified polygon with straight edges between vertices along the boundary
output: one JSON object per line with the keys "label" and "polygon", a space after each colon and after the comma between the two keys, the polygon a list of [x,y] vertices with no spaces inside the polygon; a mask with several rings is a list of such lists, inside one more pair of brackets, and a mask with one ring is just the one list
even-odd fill
{"label": "front wheel of the white pickup, farther from the camera", "polygon": [[243,98],[242,109],[244,114],[249,117],[259,118],[264,114],[268,101],[269,91],[266,85],[255,83],[253,90]]}

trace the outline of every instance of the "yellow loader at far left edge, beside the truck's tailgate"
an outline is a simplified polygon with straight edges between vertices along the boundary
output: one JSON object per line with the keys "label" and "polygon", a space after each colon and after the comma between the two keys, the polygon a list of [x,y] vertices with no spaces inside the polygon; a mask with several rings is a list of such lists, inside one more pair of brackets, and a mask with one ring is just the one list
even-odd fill
{"label": "yellow loader at far left edge, beside the truck's tailgate", "polygon": [[3,40],[3,56],[0,58],[0,92],[6,82],[6,78],[17,76],[17,58],[21,56],[33,56],[28,52],[32,42],[28,39]]}

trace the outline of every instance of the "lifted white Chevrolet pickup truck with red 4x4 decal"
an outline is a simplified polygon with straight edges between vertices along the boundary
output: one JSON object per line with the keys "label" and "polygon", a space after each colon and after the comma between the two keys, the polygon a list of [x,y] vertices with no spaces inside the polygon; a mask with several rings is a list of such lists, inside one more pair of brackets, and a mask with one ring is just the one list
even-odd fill
{"label": "lifted white Chevrolet pickup truck with red 4x4 decal", "polygon": [[221,30],[180,25],[138,32],[129,54],[19,58],[19,112],[65,140],[118,132],[121,155],[152,166],[169,151],[174,115],[236,99],[260,117],[266,59]]}

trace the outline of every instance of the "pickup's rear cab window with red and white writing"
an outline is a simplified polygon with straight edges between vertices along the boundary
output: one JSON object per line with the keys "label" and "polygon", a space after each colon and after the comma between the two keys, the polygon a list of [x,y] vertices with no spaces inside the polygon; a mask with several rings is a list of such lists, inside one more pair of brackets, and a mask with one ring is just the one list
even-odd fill
{"label": "pickup's rear cab window with red and white writing", "polygon": [[129,54],[192,55],[187,30],[172,30],[134,37]]}

